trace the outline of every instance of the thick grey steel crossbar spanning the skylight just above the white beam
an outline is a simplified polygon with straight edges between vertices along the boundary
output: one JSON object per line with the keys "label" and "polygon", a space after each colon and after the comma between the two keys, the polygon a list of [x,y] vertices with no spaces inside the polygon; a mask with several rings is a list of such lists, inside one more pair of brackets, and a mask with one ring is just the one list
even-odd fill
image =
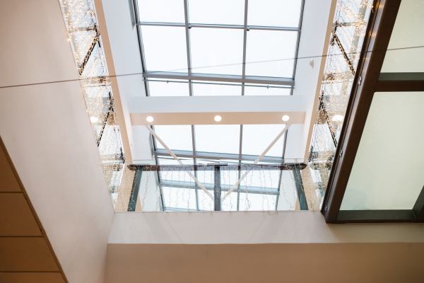
{"label": "thick grey steel crossbar spanning the skylight just above the white beam", "polygon": [[220,74],[188,74],[173,71],[146,71],[143,72],[143,78],[152,79],[179,79],[179,80],[194,80],[194,81],[225,81],[228,83],[263,83],[276,84],[281,86],[294,86],[295,80],[290,78],[274,78],[271,76],[235,76],[235,75],[220,75]]}

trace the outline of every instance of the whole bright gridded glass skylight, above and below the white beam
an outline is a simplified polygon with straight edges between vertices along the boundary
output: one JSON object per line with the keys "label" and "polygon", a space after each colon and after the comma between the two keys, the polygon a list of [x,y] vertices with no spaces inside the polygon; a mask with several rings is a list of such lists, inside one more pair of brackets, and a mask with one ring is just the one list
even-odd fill
{"label": "whole bright gridded glass skylight, above and below the white beam", "polygon": [[[147,95],[290,96],[303,3],[137,0]],[[237,164],[254,161],[284,126],[175,125],[155,126],[155,132],[191,163],[220,160]],[[284,163],[285,139],[286,134],[266,157]],[[158,142],[154,147],[156,158],[169,156]],[[200,202],[201,192],[198,197]],[[242,202],[240,197],[237,209]],[[271,196],[266,203],[276,207],[275,202]],[[201,204],[197,205],[201,209]],[[234,209],[231,205],[227,208]]]}

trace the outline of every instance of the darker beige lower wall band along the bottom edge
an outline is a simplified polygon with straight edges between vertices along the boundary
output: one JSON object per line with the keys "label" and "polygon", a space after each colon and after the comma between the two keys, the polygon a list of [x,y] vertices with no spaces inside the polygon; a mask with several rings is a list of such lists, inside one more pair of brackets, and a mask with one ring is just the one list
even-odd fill
{"label": "darker beige lower wall band along the bottom edge", "polygon": [[424,243],[110,244],[107,283],[423,282]]}

